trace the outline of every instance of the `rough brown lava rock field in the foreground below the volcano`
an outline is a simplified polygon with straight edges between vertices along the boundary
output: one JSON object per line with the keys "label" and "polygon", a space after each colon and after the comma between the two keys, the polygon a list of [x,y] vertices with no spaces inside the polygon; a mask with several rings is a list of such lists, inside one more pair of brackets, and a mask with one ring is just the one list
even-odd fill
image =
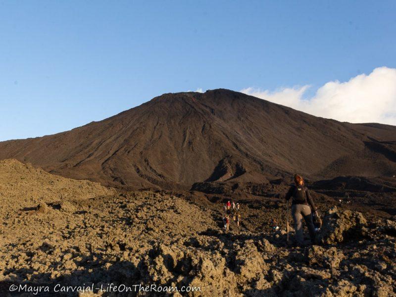
{"label": "rough brown lava rock field in the foreground below the volcano", "polygon": [[[20,165],[13,163],[12,166],[19,168]],[[283,226],[275,233],[257,232],[257,226],[250,227],[254,220],[246,205],[242,205],[242,219],[249,224],[238,227],[232,221],[231,230],[225,231],[221,228],[220,201],[206,207],[182,196],[149,191],[121,193],[86,181],[74,181],[77,183],[74,184],[72,180],[63,181],[67,185],[63,188],[53,181],[53,186],[61,189],[56,194],[45,182],[54,176],[41,179],[38,172],[28,180],[10,181],[4,178],[4,172],[12,173],[15,178],[11,167],[3,164],[3,178],[0,177],[3,203],[0,296],[21,296],[21,293],[9,292],[13,284],[94,284],[95,288],[101,285],[106,288],[109,283],[193,286],[199,287],[200,292],[109,293],[94,290],[84,294],[24,294],[396,295],[394,220],[368,221],[360,212],[332,207],[324,218],[318,245],[291,247],[286,243]],[[28,166],[26,170],[36,169]],[[37,186],[38,179],[42,181],[43,197],[26,198],[26,193],[17,191],[32,188],[31,183]],[[67,188],[81,192],[68,196]],[[53,197],[46,191],[52,191]],[[7,193],[11,192],[13,196],[9,199]],[[270,216],[271,211],[268,208],[254,215]]]}

